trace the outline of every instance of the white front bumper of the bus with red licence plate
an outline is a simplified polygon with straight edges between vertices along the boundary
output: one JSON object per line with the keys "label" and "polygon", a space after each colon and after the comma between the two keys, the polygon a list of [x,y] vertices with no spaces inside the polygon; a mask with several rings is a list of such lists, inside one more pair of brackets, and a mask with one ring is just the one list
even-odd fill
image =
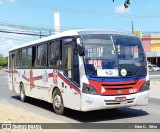
{"label": "white front bumper of the bus with red licence plate", "polygon": [[[81,111],[92,111],[101,109],[114,109],[131,106],[143,106],[148,104],[149,91],[139,92],[131,95],[100,96],[82,94]],[[117,102],[115,98],[126,98]]]}

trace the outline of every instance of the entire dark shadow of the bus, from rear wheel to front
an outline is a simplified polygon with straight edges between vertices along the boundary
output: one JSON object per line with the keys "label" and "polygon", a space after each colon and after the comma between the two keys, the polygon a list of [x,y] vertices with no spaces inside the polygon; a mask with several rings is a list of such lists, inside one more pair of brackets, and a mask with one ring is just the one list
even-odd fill
{"label": "entire dark shadow of the bus, from rear wheel to front", "polygon": [[[19,96],[12,96],[12,98],[20,100]],[[27,103],[37,106],[39,108],[42,108],[44,110],[47,110],[49,112],[53,112],[52,104],[48,102],[30,98],[27,101]],[[147,113],[146,111],[143,111],[142,109],[136,109],[136,107],[133,107],[133,108],[96,110],[96,111],[89,111],[89,112],[80,112],[80,111],[68,109],[68,113],[63,116],[76,120],[78,122],[92,123],[92,122],[99,122],[99,121],[128,119],[133,117],[142,117],[142,116],[149,115],[149,113]],[[53,114],[55,113],[53,112]]]}

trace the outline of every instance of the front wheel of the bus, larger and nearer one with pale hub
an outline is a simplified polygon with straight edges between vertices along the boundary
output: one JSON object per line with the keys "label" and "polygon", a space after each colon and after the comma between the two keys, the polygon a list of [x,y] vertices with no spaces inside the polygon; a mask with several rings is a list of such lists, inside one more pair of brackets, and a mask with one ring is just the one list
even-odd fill
{"label": "front wheel of the bus, larger and nearer one with pale hub", "polygon": [[52,102],[53,102],[53,110],[56,114],[62,115],[65,113],[63,98],[58,88],[54,89],[53,91]]}

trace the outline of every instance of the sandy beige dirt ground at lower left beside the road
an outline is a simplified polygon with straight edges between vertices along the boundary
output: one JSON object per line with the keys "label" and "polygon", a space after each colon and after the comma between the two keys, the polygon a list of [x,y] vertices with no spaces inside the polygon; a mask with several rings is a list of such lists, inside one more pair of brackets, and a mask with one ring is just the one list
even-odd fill
{"label": "sandy beige dirt ground at lower left beside the road", "polygon": [[[14,106],[7,106],[3,102],[0,103],[0,123],[65,123],[63,121],[58,122],[57,120],[48,119],[40,115],[36,115],[34,113],[23,111],[22,109],[16,108]],[[75,132],[77,130],[49,130],[49,129],[35,129],[35,130],[24,130],[24,129],[0,129],[0,132]]]}

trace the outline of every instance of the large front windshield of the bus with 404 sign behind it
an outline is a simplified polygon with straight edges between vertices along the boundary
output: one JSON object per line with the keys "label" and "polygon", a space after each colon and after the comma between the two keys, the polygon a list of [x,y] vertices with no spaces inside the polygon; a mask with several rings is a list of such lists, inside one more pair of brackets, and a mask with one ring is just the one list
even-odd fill
{"label": "large front windshield of the bus with 404 sign behind it", "polygon": [[[86,73],[95,77],[135,76],[145,61],[138,37],[109,34],[82,36]],[[126,73],[121,73],[121,70]]]}

